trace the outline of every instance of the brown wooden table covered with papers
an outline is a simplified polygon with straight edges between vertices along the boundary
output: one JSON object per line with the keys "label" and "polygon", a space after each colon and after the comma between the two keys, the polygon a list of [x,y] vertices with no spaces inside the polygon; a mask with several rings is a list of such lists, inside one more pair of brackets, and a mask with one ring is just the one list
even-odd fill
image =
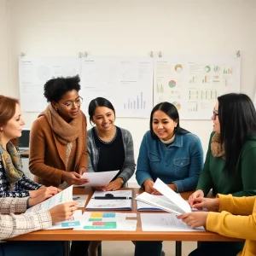
{"label": "brown wooden table covered with papers", "polygon": [[[129,189],[129,188],[127,188]],[[142,193],[142,189],[133,190],[133,197],[138,193]],[[89,195],[87,202],[92,195],[91,190],[83,188],[74,188],[73,194]],[[184,192],[181,194],[184,199],[188,199],[191,192]],[[84,208],[83,208],[84,211]],[[104,210],[103,210],[104,211]],[[96,212],[96,211],[90,211]],[[102,210],[101,210],[102,212]],[[235,238],[221,236],[216,233],[208,231],[196,232],[178,232],[178,231],[144,231],[142,230],[142,223],[140,212],[137,212],[137,203],[133,200],[132,211],[105,211],[105,212],[134,212],[137,213],[137,230],[136,231],[83,231],[83,230],[40,230],[22,236],[16,236],[9,240],[12,241],[177,241],[176,255],[181,255],[181,241],[241,241]],[[143,212],[144,213],[144,212]],[[151,212],[152,213],[152,212]],[[154,212],[158,214],[160,212]],[[131,218],[135,219],[135,218]]]}

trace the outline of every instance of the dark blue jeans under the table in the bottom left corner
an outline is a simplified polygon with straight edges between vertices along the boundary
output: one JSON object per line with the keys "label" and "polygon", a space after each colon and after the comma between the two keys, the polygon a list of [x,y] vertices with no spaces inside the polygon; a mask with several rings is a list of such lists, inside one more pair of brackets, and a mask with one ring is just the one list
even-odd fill
{"label": "dark blue jeans under the table in the bottom left corner", "polygon": [[63,256],[61,241],[7,241],[0,243],[0,256]]}

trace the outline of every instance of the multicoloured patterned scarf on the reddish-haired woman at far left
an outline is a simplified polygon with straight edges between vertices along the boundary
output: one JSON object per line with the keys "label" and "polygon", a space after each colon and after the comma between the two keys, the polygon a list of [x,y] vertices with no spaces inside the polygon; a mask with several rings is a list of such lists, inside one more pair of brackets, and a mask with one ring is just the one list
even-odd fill
{"label": "multicoloured patterned scarf on the reddish-haired woman at far left", "polygon": [[20,154],[13,143],[7,143],[6,149],[7,150],[5,150],[2,143],[0,143],[0,158],[3,162],[3,168],[10,184],[9,189],[11,189],[14,183],[19,181],[23,176],[23,172],[21,171],[22,163],[20,160]]}

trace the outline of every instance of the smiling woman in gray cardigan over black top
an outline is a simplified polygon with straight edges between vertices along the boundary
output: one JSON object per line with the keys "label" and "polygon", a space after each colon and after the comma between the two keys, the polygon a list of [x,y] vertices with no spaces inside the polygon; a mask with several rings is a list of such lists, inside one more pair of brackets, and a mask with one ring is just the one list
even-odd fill
{"label": "smiling woman in gray cardigan over black top", "polygon": [[[115,110],[111,102],[97,97],[89,104],[90,123],[96,126],[88,131],[88,172],[119,170],[113,181],[99,190],[117,190],[125,186],[135,171],[133,141],[130,131],[114,125]],[[96,255],[101,241],[75,241],[77,256]],[[85,252],[85,253],[84,253]]]}

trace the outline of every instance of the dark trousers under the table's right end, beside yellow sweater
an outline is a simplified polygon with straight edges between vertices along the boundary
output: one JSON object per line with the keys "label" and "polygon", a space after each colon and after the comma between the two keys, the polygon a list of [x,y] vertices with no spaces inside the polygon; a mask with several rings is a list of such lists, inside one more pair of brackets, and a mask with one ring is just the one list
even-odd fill
{"label": "dark trousers under the table's right end, beside yellow sweater", "polygon": [[243,242],[234,241],[200,241],[199,247],[189,256],[236,256]]}

